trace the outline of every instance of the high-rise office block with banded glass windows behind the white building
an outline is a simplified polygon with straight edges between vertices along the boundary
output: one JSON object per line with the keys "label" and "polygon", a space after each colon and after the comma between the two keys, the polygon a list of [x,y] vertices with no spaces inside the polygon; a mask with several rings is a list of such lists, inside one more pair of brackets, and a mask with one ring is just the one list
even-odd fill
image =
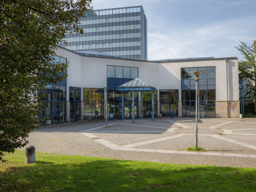
{"label": "high-rise office block with banded glass windows behind the white building", "polygon": [[88,8],[80,18],[83,34],[67,34],[66,49],[98,51],[122,58],[147,60],[147,18],[142,6]]}

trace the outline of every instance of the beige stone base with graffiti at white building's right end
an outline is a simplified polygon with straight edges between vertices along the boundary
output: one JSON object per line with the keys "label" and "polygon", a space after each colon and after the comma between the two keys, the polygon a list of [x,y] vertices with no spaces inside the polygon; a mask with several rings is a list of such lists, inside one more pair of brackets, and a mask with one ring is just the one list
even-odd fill
{"label": "beige stone base with graffiti at white building's right end", "polygon": [[216,117],[222,118],[239,118],[240,101],[228,102],[229,115],[227,116],[227,101],[216,101]]}

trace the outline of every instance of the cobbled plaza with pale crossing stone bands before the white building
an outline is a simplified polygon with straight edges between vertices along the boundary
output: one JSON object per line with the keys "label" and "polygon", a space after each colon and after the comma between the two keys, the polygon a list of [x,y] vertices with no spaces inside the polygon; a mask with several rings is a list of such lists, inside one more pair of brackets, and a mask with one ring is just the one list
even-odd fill
{"label": "cobbled plaza with pale crossing stone bands before the white building", "polygon": [[201,119],[198,146],[206,152],[186,151],[194,146],[194,118],[135,121],[108,121],[108,127],[105,120],[42,127],[30,133],[28,145],[45,153],[256,168],[256,118]]}

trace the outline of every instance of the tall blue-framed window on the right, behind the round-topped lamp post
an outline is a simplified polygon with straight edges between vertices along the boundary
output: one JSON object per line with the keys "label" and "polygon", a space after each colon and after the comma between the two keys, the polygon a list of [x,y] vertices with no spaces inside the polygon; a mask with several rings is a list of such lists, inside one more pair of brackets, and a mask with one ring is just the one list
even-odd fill
{"label": "tall blue-framed window on the right, behind the round-topped lamp post", "polygon": [[181,100],[182,116],[196,116],[196,81],[191,71],[203,71],[199,74],[199,111],[200,117],[216,117],[216,76],[215,67],[182,68]]}

